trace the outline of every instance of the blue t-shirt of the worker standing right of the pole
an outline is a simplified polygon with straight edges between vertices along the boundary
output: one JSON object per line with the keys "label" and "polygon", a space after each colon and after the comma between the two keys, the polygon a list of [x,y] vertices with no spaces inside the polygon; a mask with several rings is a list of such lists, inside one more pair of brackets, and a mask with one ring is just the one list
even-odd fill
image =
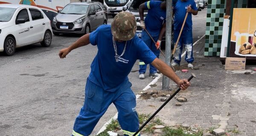
{"label": "blue t-shirt of the worker standing right of the pole", "polygon": [[[187,7],[191,5],[193,10],[198,10],[194,0],[181,1],[178,0],[174,8],[174,30],[180,30],[183,24],[183,21],[186,16]],[[192,30],[192,13],[188,14],[186,23],[183,27],[183,30]]]}

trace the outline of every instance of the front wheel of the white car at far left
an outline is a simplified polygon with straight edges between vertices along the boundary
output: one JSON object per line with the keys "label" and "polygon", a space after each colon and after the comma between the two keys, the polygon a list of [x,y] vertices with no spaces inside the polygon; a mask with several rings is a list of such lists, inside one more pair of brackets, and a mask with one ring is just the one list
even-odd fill
{"label": "front wheel of the white car at far left", "polygon": [[7,37],[4,41],[4,52],[7,56],[12,56],[15,53],[16,49],[16,41],[12,37]]}

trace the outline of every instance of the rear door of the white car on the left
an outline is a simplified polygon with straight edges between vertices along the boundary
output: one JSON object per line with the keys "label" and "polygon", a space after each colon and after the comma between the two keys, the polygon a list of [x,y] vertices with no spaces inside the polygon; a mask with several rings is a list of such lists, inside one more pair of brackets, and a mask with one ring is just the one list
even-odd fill
{"label": "rear door of the white car on the left", "polygon": [[32,34],[35,42],[42,41],[44,39],[44,32],[46,30],[46,22],[44,22],[44,15],[36,8],[29,8],[29,12],[32,17]]}

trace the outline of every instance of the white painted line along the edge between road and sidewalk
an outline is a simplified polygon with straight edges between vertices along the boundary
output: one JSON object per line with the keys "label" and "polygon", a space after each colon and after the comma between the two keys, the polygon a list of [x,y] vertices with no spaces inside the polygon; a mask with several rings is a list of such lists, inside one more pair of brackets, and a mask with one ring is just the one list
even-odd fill
{"label": "white painted line along the edge between road and sidewalk", "polygon": [[[195,44],[197,44],[197,42],[200,41],[204,36],[205,36],[205,34],[204,34],[200,39],[198,39],[196,42],[194,42],[193,46],[194,46]],[[185,54],[186,54],[186,51],[182,54],[181,57],[183,57]],[[151,88],[150,85],[154,85],[154,84],[157,82],[157,80],[160,79],[162,76],[163,76],[163,74],[160,74],[160,76],[156,77],[153,81],[151,81],[142,91],[146,91],[146,90],[148,90],[149,88]],[[139,99],[140,96],[141,96],[141,94],[137,94],[137,95],[136,95],[136,99]],[[102,133],[102,132],[107,128],[107,125],[111,123],[112,119],[117,119],[117,115],[118,115],[118,113],[116,113],[116,115],[113,116],[108,122],[106,122],[106,123],[102,126],[102,128],[99,130],[99,132],[97,133],[97,135],[98,135],[99,133]]]}

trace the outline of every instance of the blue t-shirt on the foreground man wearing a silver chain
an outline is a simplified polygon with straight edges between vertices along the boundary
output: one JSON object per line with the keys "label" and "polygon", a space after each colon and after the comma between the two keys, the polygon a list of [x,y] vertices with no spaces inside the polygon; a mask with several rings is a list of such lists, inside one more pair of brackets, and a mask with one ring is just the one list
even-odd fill
{"label": "blue t-shirt on the foreground man wearing a silver chain", "polygon": [[[151,63],[156,56],[139,37],[127,41],[125,53],[116,62],[110,25],[99,26],[90,33],[90,43],[97,45],[98,53],[91,64],[90,81],[102,87],[105,91],[114,92],[128,81],[128,74],[137,59],[145,64]],[[117,54],[121,55],[124,42],[117,42]]]}

